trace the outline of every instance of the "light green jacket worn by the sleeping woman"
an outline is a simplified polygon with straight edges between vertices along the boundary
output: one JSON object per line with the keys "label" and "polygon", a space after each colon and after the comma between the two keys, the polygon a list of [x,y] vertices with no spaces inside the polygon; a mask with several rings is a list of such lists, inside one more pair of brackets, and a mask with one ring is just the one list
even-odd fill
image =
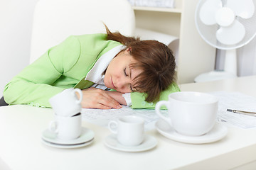
{"label": "light green jacket worn by the sleeping woman", "polygon": [[[30,104],[50,107],[49,98],[68,88],[87,88],[85,77],[95,62],[113,47],[122,45],[105,40],[106,34],[70,36],[60,45],[50,48],[36,62],[28,65],[11,79],[4,89],[6,103]],[[163,91],[160,100],[167,100],[168,94],[180,91],[171,84]],[[144,101],[144,94],[131,94],[132,108],[154,108],[155,103]]]}

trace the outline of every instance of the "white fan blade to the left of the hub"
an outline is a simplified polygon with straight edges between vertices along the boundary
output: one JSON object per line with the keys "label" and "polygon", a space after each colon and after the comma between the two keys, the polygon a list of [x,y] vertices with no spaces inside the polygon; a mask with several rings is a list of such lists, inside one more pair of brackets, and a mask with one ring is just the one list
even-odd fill
{"label": "white fan blade to the left of the hub", "polygon": [[199,11],[199,18],[201,21],[210,26],[216,23],[215,13],[223,6],[221,0],[207,0]]}

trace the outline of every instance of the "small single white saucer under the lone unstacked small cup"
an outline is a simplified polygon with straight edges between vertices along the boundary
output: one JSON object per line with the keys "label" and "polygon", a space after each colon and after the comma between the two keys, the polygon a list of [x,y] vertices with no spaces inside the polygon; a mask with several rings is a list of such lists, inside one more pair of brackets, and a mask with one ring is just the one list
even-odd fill
{"label": "small single white saucer under the lone unstacked small cup", "polygon": [[112,134],[106,137],[105,145],[112,149],[116,149],[124,152],[142,152],[142,151],[146,151],[156,147],[157,140],[150,135],[145,135],[145,139],[141,145],[129,147],[129,146],[121,145],[117,141],[116,135]]}

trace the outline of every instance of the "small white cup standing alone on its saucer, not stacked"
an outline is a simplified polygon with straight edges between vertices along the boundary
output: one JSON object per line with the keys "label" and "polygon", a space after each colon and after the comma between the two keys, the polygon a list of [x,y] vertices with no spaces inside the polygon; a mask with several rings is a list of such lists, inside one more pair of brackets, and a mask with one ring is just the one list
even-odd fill
{"label": "small white cup standing alone on its saucer, not stacked", "polygon": [[117,134],[117,141],[125,146],[140,145],[144,140],[144,119],[134,115],[126,115],[117,121],[112,120],[108,128]]}

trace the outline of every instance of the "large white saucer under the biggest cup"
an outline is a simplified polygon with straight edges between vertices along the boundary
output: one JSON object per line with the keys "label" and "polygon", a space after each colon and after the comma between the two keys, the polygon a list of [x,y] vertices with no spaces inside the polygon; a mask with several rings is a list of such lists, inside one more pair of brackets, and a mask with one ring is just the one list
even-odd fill
{"label": "large white saucer under the biggest cup", "polygon": [[174,130],[166,121],[158,120],[156,122],[156,130],[165,137],[177,142],[190,144],[203,144],[221,140],[228,133],[228,129],[220,123],[215,123],[213,130],[201,136],[186,136],[181,135]]}

